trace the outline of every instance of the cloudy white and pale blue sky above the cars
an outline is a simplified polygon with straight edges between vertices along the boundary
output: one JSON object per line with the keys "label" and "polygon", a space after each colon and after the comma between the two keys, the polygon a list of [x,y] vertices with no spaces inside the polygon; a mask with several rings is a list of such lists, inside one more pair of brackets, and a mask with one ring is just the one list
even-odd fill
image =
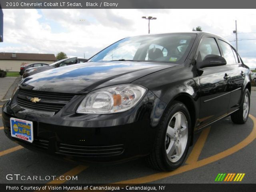
{"label": "cloudy white and pale blue sky above the cars", "polygon": [[90,58],[127,36],[190,32],[201,26],[235,44],[245,64],[256,68],[256,10],[252,9],[4,9],[4,42],[0,52],[65,52]]}

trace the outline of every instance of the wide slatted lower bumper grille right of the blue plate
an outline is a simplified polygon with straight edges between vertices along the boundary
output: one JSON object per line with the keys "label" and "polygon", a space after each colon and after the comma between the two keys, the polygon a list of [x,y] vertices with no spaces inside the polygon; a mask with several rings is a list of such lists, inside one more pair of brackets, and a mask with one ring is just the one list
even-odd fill
{"label": "wide slatted lower bumper grille right of the blue plate", "polygon": [[60,143],[56,153],[71,156],[107,157],[120,155],[123,152],[123,144],[110,146],[78,146]]}

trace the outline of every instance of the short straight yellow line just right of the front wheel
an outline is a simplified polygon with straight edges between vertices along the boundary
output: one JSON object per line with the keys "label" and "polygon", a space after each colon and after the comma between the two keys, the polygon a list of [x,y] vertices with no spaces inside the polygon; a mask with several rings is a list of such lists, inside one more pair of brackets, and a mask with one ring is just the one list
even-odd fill
{"label": "short straight yellow line just right of the front wheel", "polygon": [[208,127],[202,131],[202,133],[200,134],[198,140],[196,141],[196,144],[194,145],[190,155],[188,156],[188,158],[186,160],[186,164],[192,164],[192,163],[198,161],[198,158],[199,158],[201,151],[204,147],[204,143],[206,142],[207,136],[210,132],[210,128],[211,127]]}

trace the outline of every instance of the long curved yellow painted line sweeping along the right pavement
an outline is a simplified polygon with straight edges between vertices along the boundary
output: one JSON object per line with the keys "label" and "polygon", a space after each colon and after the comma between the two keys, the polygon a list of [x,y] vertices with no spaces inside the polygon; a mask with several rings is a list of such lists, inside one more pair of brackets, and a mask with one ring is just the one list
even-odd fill
{"label": "long curved yellow painted line sweeping along the right pavement", "polygon": [[247,146],[248,144],[250,144],[256,138],[256,118],[252,115],[249,115],[249,116],[254,123],[252,132],[244,140],[242,140],[240,143],[236,144],[235,146],[233,146],[223,152],[220,152],[216,155],[213,155],[211,157],[199,160],[193,164],[184,165],[172,172],[160,172],[160,173],[151,174],[151,175],[140,177],[140,178],[120,181],[120,182],[117,182],[116,184],[131,184],[131,183],[132,184],[140,184],[140,183],[153,182],[156,180],[160,180],[160,179],[167,178],[167,177],[170,177],[170,176],[173,176],[176,174],[187,172],[189,170],[193,170],[195,168],[205,166],[207,164],[210,164],[212,162],[215,162],[217,160],[220,160],[222,158],[225,158],[225,157],[237,152],[238,150],[240,150],[240,149],[244,148],[245,146]]}

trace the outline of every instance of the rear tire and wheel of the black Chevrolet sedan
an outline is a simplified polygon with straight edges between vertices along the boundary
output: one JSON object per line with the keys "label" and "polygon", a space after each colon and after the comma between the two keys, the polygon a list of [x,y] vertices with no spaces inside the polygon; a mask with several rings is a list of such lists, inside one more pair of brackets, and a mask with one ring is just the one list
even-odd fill
{"label": "rear tire and wheel of the black Chevrolet sedan", "polygon": [[250,112],[250,92],[246,88],[244,90],[243,99],[242,99],[239,110],[231,114],[232,122],[236,124],[244,124],[248,119],[249,112]]}

